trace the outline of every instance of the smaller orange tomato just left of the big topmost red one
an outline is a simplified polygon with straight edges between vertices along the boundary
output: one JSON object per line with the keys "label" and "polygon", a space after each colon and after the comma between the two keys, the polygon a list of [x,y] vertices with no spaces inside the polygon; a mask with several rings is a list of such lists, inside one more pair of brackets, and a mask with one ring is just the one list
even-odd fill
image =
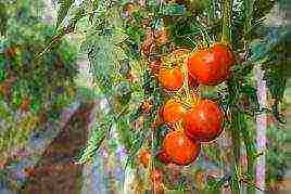
{"label": "smaller orange tomato just left of the big topmost red one", "polygon": [[159,80],[164,89],[177,91],[182,87],[182,70],[177,66],[174,68],[162,68],[159,73]]}

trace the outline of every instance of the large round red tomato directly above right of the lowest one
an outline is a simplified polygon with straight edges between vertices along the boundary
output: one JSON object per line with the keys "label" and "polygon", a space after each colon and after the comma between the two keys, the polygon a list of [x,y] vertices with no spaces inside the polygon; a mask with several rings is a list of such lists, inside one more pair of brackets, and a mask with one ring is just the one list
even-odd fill
{"label": "large round red tomato directly above right of the lowest one", "polygon": [[202,100],[186,116],[186,134],[201,142],[210,142],[223,131],[223,113],[217,103]]}

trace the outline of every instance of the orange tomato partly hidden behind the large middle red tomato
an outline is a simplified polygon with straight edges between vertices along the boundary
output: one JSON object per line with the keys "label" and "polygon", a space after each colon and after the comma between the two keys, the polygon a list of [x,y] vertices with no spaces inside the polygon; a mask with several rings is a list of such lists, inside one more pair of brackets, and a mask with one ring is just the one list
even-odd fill
{"label": "orange tomato partly hidden behind the large middle red tomato", "polygon": [[164,104],[163,107],[163,120],[166,124],[173,125],[177,121],[182,121],[185,115],[187,114],[187,108],[181,102],[175,99],[170,99]]}

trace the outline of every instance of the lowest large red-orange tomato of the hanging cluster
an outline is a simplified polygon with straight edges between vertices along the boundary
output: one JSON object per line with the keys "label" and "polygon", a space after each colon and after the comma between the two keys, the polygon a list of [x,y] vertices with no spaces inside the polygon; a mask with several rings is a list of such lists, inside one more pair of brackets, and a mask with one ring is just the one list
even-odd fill
{"label": "lowest large red-orange tomato of the hanging cluster", "polygon": [[200,153],[200,142],[188,138],[184,131],[173,131],[163,142],[165,153],[170,160],[180,166],[193,163]]}

